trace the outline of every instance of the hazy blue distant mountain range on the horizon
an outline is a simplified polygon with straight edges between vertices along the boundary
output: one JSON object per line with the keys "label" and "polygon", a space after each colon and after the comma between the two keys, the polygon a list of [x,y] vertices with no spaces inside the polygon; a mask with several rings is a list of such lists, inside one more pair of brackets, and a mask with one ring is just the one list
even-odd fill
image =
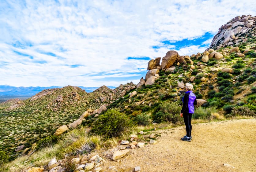
{"label": "hazy blue distant mountain range on the horizon", "polygon": [[[84,87],[79,86],[81,89],[85,90],[87,93],[90,93],[96,90],[99,87]],[[114,86],[107,86],[110,89],[115,89]],[[42,90],[51,89],[51,88],[62,88],[61,86],[50,86],[50,87],[15,87],[9,85],[0,85],[0,96],[33,96],[36,93],[39,93]]]}

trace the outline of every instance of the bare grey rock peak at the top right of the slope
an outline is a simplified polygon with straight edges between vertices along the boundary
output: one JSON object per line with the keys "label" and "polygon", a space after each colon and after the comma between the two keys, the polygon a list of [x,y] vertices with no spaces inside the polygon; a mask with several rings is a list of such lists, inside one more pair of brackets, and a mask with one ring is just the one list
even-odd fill
{"label": "bare grey rock peak at the top right of the slope", "polygon": [[256,16],[236,16],[219,28],[210,49],[233,46],[255,36]]}

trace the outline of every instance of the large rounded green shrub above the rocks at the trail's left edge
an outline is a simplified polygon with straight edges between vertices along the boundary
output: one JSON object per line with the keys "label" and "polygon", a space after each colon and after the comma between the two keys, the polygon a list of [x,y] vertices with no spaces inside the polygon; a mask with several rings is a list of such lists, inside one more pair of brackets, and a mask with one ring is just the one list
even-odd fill
{"label": "large rounded green shrub above the rocks at the trail's left edge", "polygon": [[134,130],[133,122],[118,110],[107,110],[94,122],[92,132],[105,137],[117,137]]}

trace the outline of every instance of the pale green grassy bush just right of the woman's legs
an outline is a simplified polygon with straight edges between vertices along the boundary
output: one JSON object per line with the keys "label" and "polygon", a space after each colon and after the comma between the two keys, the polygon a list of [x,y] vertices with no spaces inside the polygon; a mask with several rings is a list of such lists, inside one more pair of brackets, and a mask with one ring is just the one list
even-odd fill
{"label": "pale green grassy bush just right of the woman's legs", "polygon": [[192,115],[193,119],[210,119],[213,113],[217,113],[216,107],[198,107]]}

